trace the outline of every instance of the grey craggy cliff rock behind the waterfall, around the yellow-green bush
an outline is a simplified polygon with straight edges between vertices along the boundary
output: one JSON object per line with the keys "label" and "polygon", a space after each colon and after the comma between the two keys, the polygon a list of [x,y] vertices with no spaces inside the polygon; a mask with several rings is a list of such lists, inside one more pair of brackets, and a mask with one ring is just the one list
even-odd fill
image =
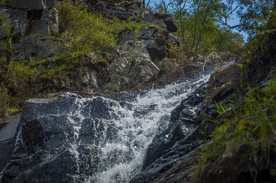
{"label": "grey craggy cliff rock behind the waterfall, around the yellow-green bush", "polygon": [[[55,9],[57,1],[6,1],[1,13],[8,14],[12,25],[12,59],[46,62],[41,67],[52,69],[57,63],[55,55],[63,53],[57,36],[59,16]],[[39,93],[59,91],[117,92],[130,89],[159,73],[156,62],[166,57],[166,45],[179,45],[179,39],[171,32],[177,31],[172,17],[153,14],[141,9],[141,1],[83,1],[88,10],[100,12],[106,17],[140,17],[141,21],[154,26],[144,26],[139,31],[125,30],[119,34],[118,46],[107,47],[109,54],[93,53],[77,58],[77,67],[59,73],[61,77],[38,77],[33,83]],[[137,38],[135,39],[135,37]],[[5,56],[6,50],[0,51]],[[99,63],[104,58],[107,63]]]}

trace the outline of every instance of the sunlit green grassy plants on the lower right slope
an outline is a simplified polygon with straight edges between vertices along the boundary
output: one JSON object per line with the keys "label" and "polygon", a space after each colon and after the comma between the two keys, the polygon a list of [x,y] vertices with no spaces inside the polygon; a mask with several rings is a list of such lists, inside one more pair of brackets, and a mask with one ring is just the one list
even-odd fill
{"label": "sunlit green grassy plants on the lower right slope", "polygon": [[[269,161],[271,151],[276,153],[276,80],[262,89],[250,89],[242,103],[233,108],[233,116],[224,118],[223,124],[215,129],[212,143],[199,154],[194,178],[199,178],[204,167],[215,162],[221,155],[232,153],[240,144],[248,144]],[[219,113],[225,107],[217,105]],[[244,159],[245,158],[245,159]],[[243,159],[250,161],[247,155]]]}

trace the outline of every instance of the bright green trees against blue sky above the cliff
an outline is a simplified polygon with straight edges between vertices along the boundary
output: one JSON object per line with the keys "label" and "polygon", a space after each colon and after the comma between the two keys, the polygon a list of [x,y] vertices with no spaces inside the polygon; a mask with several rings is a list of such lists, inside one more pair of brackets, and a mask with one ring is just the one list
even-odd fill
{"label": "bright green trees against blue sky above the cliff", "polygon": [[[159,13],[172,13],[177,24],[177,36],[181,39],[181,52],[187,56],[197,52],[230,51],[244,45],[242,35],[232,32],[221,19],[232,14],[231,2],[221,0],[176,0],[155,4]],[[227,17],[229,18],[229,17]],[[227,27],[227,28],[226,28]]]}

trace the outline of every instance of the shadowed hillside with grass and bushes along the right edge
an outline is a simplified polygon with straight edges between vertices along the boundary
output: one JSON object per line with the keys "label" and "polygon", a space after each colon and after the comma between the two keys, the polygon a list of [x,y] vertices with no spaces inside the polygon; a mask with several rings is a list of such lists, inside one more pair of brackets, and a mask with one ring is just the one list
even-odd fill
{"label": "shadowed hillside with grass and bushes along the right edge", "polygon": [[[216,103],[220,118],[215,122],[219,125],[210,145],[199,153],[193,181],[275,181],[275,20],[273,10],[246,45],[248,55],[240,65],[244,71],[233,101],[228,105]],[[213,83],[219,83],[216,78],[215,74]],[[217,89],[212,78],[211,87],[210,94]]]}

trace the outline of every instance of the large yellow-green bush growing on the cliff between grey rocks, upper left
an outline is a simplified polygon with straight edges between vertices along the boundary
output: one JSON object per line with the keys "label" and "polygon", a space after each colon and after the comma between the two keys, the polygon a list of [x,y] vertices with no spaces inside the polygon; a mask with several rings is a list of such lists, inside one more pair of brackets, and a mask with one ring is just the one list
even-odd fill
{"label": "large yellow-green bush growing on the cliff between grey rocks, upper left", "polygon": [[60,1],[55,8],[59,14],[59,41],[68,52],[97,52],[116,43],[114,27],[108,19],[70,0]]}

